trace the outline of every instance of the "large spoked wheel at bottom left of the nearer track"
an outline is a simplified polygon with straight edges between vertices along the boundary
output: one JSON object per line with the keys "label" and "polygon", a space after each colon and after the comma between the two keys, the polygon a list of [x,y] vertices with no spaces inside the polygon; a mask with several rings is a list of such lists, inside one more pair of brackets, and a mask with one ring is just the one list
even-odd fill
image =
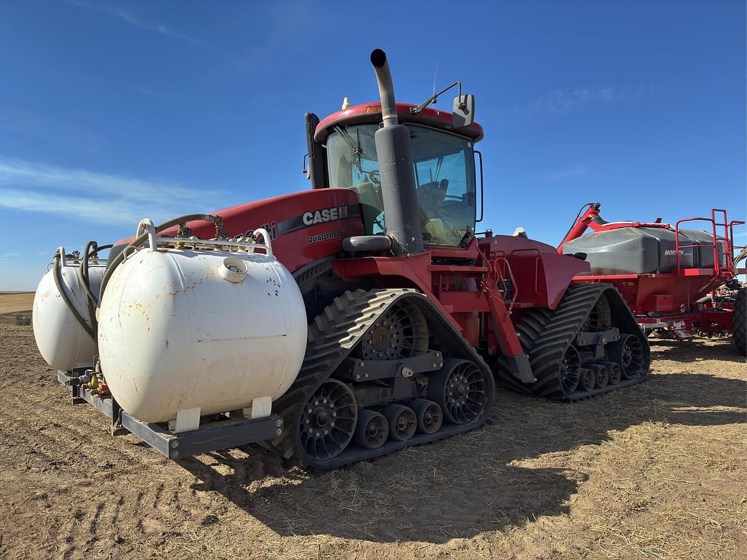
{"label": "large spoked wheel at bottom left of the nearer track", "polygon": [[353,391],[327,379],[306,401],[298,423],[300,451],[312,461],[335,458],[356,431],[358,407]]}

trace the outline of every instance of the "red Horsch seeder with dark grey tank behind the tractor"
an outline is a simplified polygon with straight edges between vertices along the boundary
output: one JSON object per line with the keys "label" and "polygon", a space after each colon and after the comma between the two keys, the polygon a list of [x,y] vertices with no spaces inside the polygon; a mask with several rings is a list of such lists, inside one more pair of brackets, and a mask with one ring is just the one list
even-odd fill
{"label": "red Horsch seeder with dark grey tank behind the tractor", "polygon": [[[710,217],[685,218],[674,226],[661,218],[607,222],[600,208],[598,202],[584,205],[558,248],[565,255],[583,254],[591,264],[574,284],[613,284],[648,335],[689,340],[693,332],[733,334],[744,354],[747,292],[737,279],[745,270],[737,264],[745,252],[734,244],[734,227],[744,222],[729,221],[717,208]],[[709,231],[682,227],[692,222],[707,223]],[[583,235],[587,228],[592,232]]]}

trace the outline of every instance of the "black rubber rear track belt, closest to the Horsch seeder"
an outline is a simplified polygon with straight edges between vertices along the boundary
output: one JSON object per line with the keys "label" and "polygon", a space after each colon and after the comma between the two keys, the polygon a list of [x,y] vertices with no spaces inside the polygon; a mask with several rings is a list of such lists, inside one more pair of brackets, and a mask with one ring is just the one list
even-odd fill
{"label": "black rubber rear track belt, closest to the Horsch seeder", "polygon": [[[629,320],[627,324],[614,324],[620,329],[621,334],[630,334],[639,337],[645,348],[644,368],[642,374],[636,379],[625,379],[616,385],[608,385],[606,388],[592,389],[592,391],[577,390],[566,395],[560,384],[558,372],[568,346],[571,346],[576,335],[586,323],[586,317],[594,308],[595,303],[601,296],[606,295],[610,300],[610,306],[616,307],[613,317],[625,317]],[[495,373],[501,382],[510,388],[530,393],[535,396],[543,396],[548,399],[577,401],[589,396],[611,393],[630,385],[642,382],[648,375],[648,341],[635,323],[633,314],[627,308],[622,296],[611,284],[574,284],[568,287],[560,304],[555,310],[548,308],[534,308],[524,312],[516,325],[522,346],[529,355],[532,372],[536,382],[525,385],[509,372],[506,363],[499,359],[494,364]],[[583,364],[581,364],[583,367]]]}

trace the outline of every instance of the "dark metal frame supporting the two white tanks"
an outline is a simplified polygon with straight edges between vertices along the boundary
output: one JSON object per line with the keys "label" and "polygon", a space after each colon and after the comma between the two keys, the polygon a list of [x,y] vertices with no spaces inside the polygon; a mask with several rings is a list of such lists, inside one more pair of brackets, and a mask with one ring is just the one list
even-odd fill
{"label": "dark metal frame supporting the two white tanks", "polygon": [[244,417],[232,417],[228,413],[211,415],[211,418],[217,420],[203,417],[199,429],[174,434],[161,424],[145,423],[132,417],[111,396],[101,398],[84,385],[75,385],[75,378],[81,376],[85,369],[59,371],[57,374],[58,381],[69,389],[72,404],[90,403],[111,419],[112,435],[134,434],[170,459],[239,447],[282,435],[282,418],[277,414],[246,420]]}

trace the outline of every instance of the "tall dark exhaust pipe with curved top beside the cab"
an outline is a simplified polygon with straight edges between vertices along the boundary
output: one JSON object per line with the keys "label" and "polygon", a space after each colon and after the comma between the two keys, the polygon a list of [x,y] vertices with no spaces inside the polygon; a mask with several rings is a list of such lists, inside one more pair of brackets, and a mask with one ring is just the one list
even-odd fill
{"label": "tall dark exhaust pipe with curved top beside the cab", "polygon": [[379,83],[384,121],[384,127],[376,131],[375,140],[386,233],[397,242],[391,248],[394,255],[415,255],[424,249],[410,131],[397,119],[394,86],[385,52],[381,49],[371,52],[371,64]]}

